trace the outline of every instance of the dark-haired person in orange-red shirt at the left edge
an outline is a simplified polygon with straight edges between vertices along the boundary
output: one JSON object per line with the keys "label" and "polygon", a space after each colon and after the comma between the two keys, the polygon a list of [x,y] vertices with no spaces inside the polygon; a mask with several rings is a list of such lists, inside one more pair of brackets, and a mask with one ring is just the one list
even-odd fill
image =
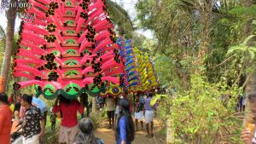
{"label": "dark-haired person in orange-red shirt at the left edge", "polygon": [[0,144],[9,144],[13,113],[8,105],[8,96],[0,93]]}

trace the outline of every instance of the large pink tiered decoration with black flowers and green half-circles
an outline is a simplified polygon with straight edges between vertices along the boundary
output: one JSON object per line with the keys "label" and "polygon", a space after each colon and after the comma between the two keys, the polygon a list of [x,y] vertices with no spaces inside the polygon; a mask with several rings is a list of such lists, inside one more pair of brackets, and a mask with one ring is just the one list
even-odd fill
{"label": "large pink tiered decoration with black flowers and green half-circles", "polygon": [[26,81],[14,89],[36,85],[37,95],[74,99],[119,84],[119,59],[113,24],[105,0],[28,0],[31,9],[20,25],[15,77]]}

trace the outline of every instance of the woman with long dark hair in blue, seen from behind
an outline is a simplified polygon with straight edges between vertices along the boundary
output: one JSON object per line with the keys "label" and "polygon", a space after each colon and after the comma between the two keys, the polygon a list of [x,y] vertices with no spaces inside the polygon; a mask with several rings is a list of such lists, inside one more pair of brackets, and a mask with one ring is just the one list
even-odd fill
{"label": "woman with long dark hair in blue, seen from behind", "polygon": [[135,126],[131,118],[130,101],[126,98],[119,101],[119,115],[115,123],[116,144],[131,144],[134,140]]}

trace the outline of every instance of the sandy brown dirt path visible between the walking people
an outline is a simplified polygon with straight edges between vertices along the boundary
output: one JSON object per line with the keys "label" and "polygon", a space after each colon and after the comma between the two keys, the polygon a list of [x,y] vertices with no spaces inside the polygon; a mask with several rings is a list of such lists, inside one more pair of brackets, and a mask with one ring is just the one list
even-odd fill
{"label": "sandy brown dirt path visible between the walking people", "polygon": [[[158,134],[158,130],[160,130],[160,125],[157,121],[154,122],[154,134]],[[139,127],[139,131],[136,132],[135,140],[132,144],[162,144],[163,142],[156,141],[155,138],[147,138],[147,132],[144,124],[144,129],[141,130]],[[158,135],[155,135],[156,137]],[[101,128],[96,130],[96,137],[102,138],[105,144],[115,144],[113,130],[108,129],[108,123],[104,122]]]}

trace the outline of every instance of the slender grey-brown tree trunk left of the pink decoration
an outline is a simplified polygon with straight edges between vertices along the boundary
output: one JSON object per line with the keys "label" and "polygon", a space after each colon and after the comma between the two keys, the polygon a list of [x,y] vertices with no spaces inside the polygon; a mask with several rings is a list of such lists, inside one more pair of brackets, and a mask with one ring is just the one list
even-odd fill
{"label": "slender grey-brown tree trunk left of the pink decoration", "polygon": [[[10,0],[10,3],[15,3],[16,0]],[[1,69],[1,75],[3,77],[3,90],[6,91],[7,78],[9,75],[9,66],[14,48],[14,36],[15,36],[15,19],[16,9],[10,8],[7,11],[7,28],[6,28],[6,43],[3,57],[3,64]]]}

